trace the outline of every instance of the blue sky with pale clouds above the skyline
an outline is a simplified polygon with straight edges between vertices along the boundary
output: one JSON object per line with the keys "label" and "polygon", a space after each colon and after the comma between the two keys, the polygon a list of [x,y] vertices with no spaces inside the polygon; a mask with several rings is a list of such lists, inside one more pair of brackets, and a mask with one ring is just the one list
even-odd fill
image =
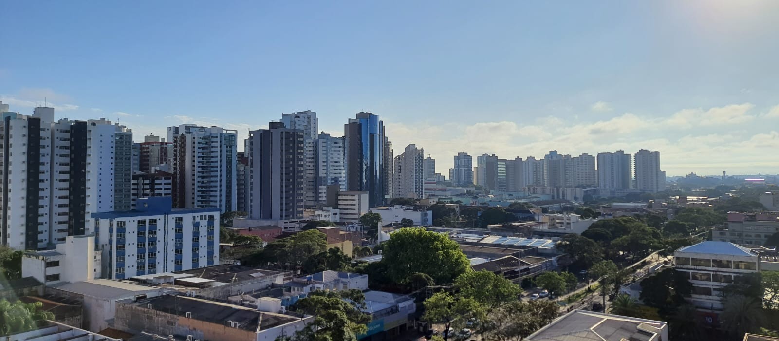
{"label": "blue sky with pale clouds above the skyline", "polygon": [[[779,2],[0,2],[0,94],[136,140],[358,111],[396,151],[661,151],[671,174],[779,173]],[[245,134],[244,134],[245,135]],[[397,152],[399,153],[399,152]]]}

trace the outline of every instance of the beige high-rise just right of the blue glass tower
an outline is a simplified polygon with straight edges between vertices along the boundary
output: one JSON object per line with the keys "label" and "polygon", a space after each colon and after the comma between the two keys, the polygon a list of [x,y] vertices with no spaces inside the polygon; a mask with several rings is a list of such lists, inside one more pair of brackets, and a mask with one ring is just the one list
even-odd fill
{"label": "beige high-rise just right of the blue glass tower", "polygon": [[404,152],[395,156],[394,195],[400,198],[422,199],[425,195],[425,149],[416,145],[406,146]]}

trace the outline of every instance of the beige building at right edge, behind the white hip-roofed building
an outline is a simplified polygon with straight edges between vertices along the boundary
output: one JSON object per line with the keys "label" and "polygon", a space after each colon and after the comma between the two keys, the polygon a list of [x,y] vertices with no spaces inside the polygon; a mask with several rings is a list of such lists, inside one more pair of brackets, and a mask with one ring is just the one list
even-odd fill
{"label": "beige building at right edge, behind the white hip-roofed building", "polygon": [[763,245],[779,232],[779,212],[728,212],[724,228],[714,229],[713,241]]}

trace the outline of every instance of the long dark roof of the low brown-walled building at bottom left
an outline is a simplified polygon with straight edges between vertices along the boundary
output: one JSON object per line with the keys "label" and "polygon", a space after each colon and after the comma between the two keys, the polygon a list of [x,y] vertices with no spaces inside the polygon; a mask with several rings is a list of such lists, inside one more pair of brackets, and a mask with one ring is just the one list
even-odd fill
{"label": "long dark roof of the low brown-walled building at bottom left", "polygon": [[285,325],[299,319],[291,315],[256,311],[252,308],[245,308],[234,304],[176,295],[153,297],[148,300],[136,302],[135,305],[147,308],[147,304],[151,304],[151,308],[155,311],[162,311],[171,315],[186,316],[186,313],[189,312],[192,313],[192,319],[198,321],[219,325],[227,325],[228,321],[238,322],[238,329],[249,330],[251,332]]}

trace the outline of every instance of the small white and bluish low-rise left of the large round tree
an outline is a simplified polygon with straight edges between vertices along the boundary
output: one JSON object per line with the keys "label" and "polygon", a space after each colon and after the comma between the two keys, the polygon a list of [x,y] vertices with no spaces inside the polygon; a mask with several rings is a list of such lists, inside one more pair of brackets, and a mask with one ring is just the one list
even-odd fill
{"label": "small white and bluish low-rise left of the large round tree", "polygon": [[284,283],[284,294],[308,294],[314,290],[368,290],[368,275],[326,270]]}

